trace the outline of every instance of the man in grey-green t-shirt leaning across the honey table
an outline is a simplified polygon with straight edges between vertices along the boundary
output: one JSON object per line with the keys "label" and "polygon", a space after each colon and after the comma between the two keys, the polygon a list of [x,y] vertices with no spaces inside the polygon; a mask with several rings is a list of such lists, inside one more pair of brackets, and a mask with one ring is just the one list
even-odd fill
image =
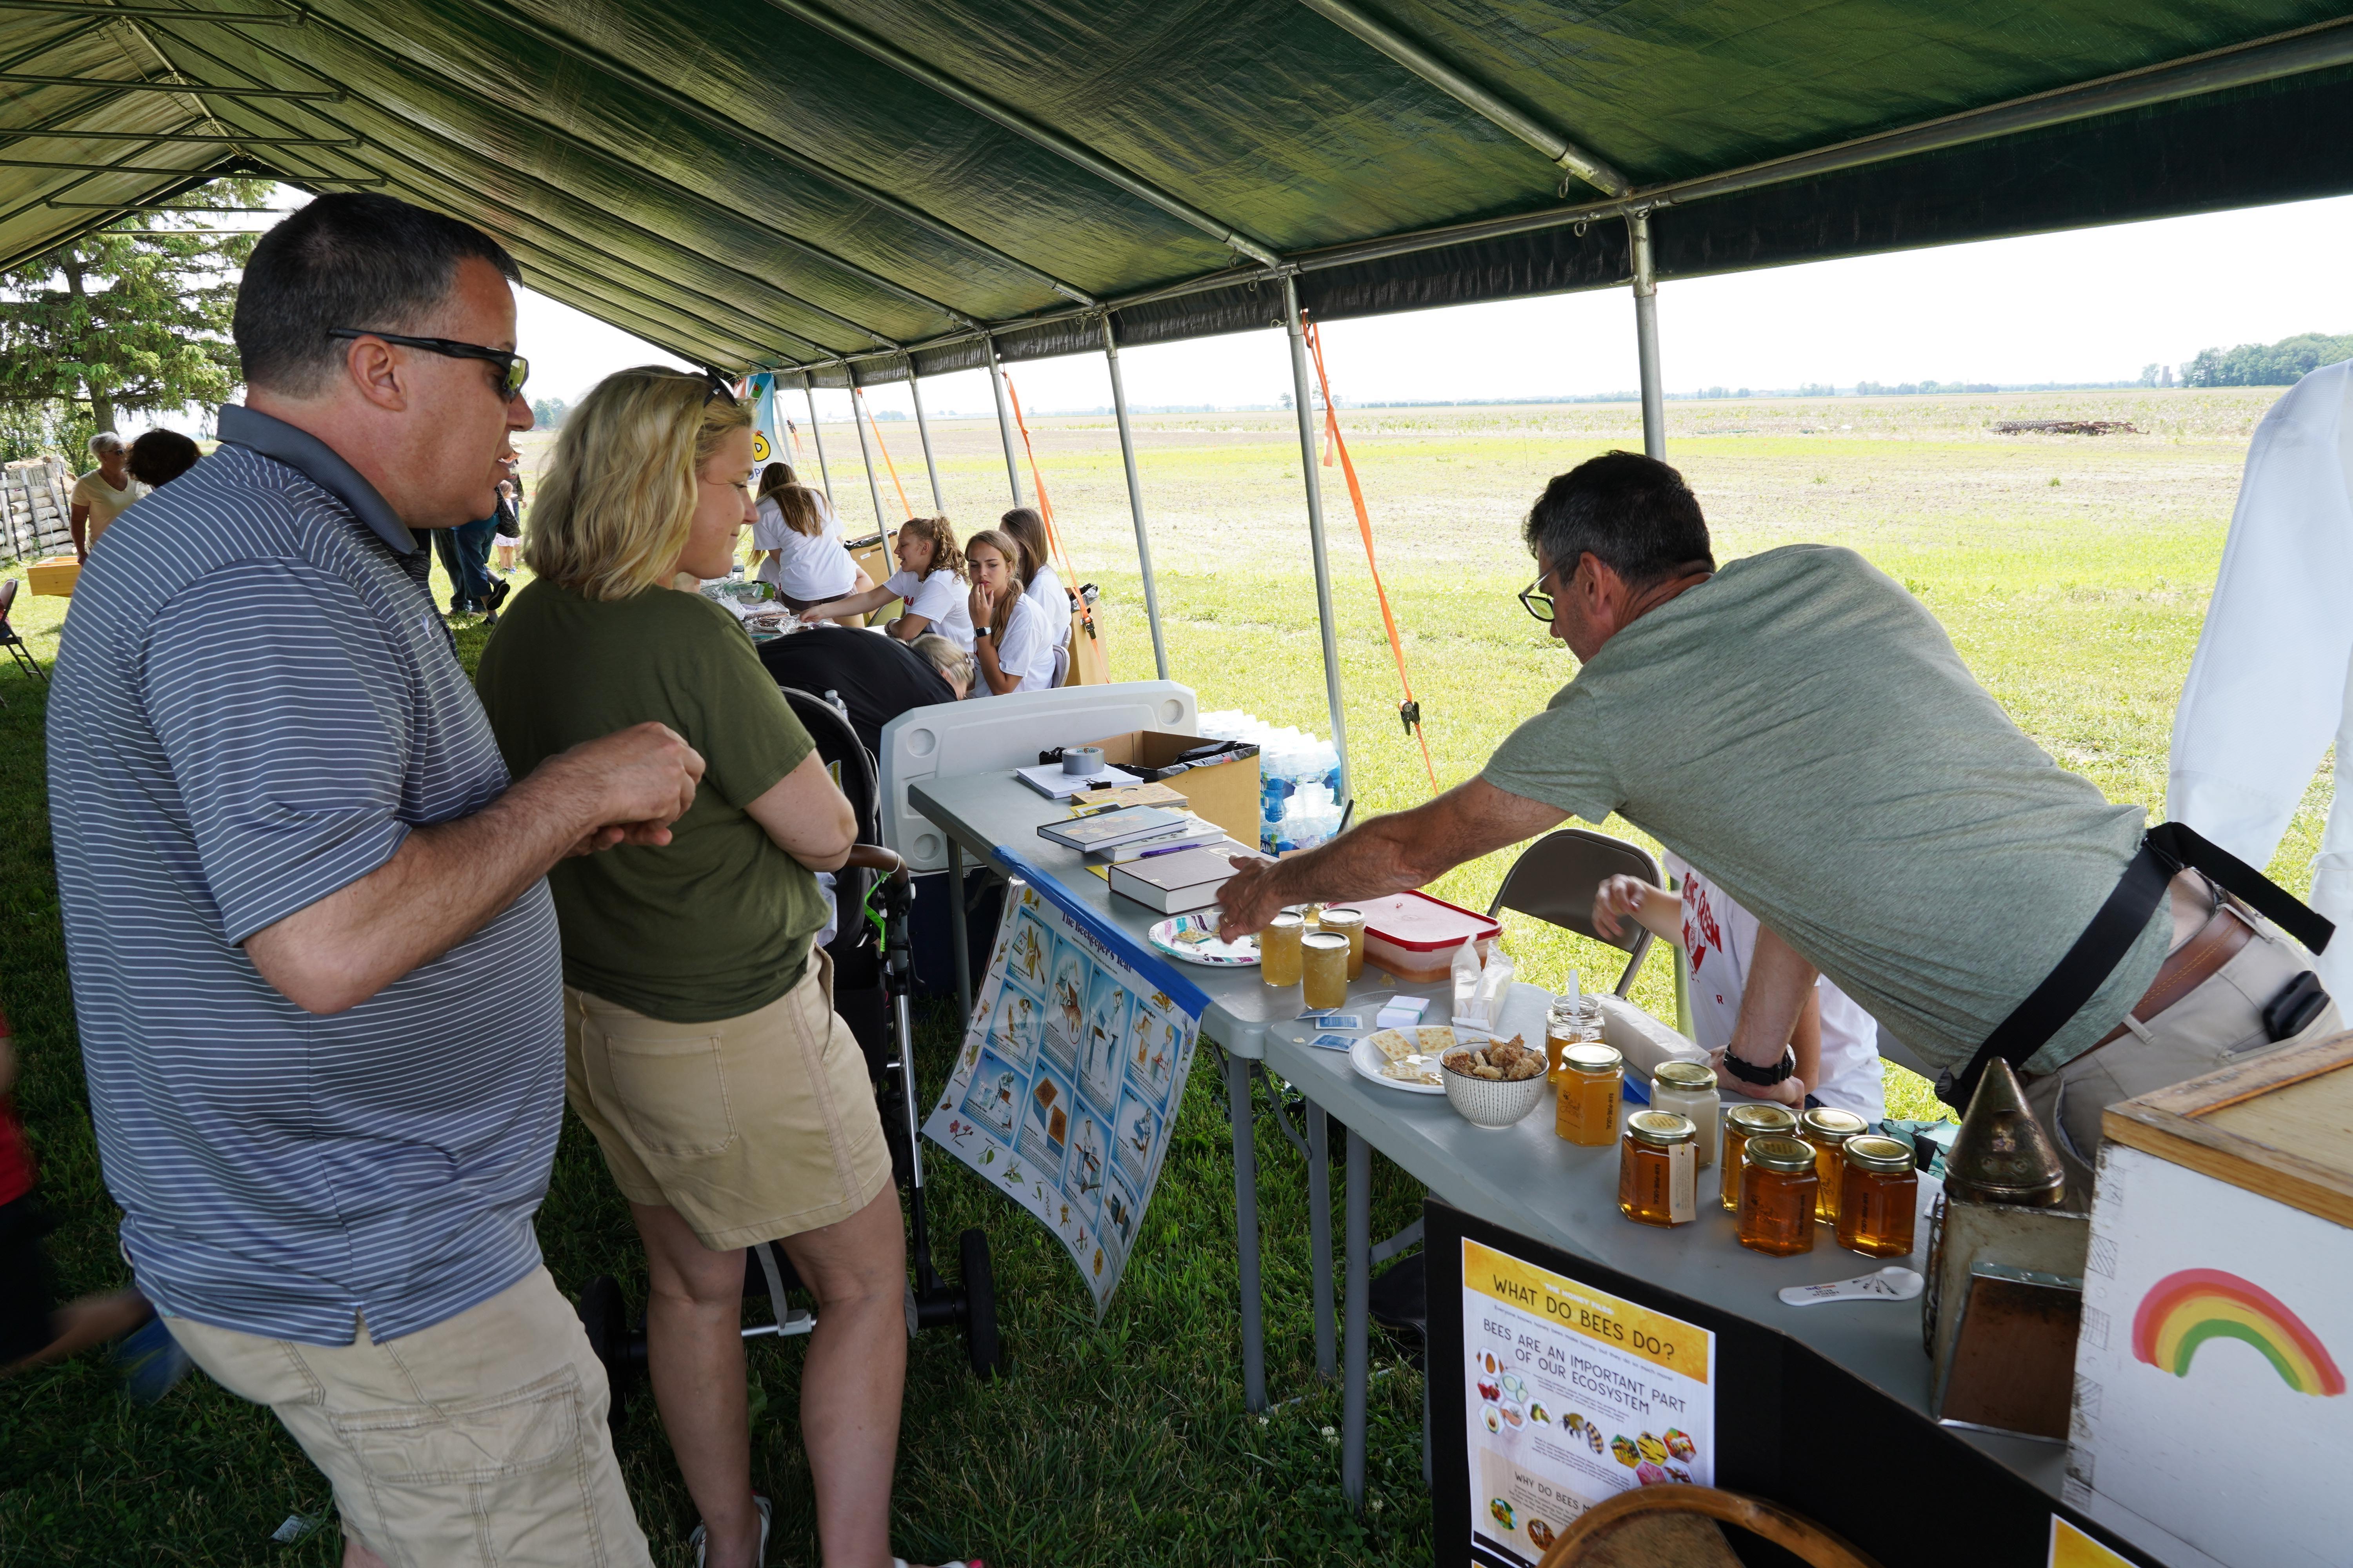
{"label": "man in grey-green t-shirt leaning across the honey table", "polygon": [[[1417,889],[1567,816],[1617,811],[1762,922],[1718,1072],[1798,1103],[1786,1041],[1817,973],[1960,1072],[2134,858],[2141,809],[2054,764],[1937,618],[1854,550],[1784,545],[1718,569],[1682,477],[1628,451],[1553,480],[1525,541],[1537,583],[1522,602],[1577,654],[1577,677],[1431,804],[1282,863],[1235,860],[1226,933],[1289,903]],[[2264,1009],[2311,969],[2195,870],[2125,943],[2026,1060],[2073,1199],[2089,1192],[2104,1105],[2287,1044]],[[2287,1039],[2339,1027],[2322,999]]]}

